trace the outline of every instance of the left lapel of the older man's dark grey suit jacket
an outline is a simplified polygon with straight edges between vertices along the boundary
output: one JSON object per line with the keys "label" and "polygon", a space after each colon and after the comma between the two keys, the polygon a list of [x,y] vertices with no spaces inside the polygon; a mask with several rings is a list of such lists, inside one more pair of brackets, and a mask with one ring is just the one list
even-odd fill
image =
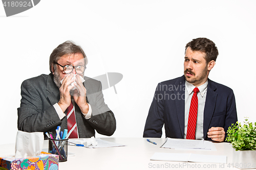
{"label": "left lapel of the older man's dark grey suit jacket", "polygon": [[59,88],[53,81],[53,75],[50,74],[46,80],[46,90],[48,95],[48,100],[50,101],[51,105],[54,105],[59,101]]}

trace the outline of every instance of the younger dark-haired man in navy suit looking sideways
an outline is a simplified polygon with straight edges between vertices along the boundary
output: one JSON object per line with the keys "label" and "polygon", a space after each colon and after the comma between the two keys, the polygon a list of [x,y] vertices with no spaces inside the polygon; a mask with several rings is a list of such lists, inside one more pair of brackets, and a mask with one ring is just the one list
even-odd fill
{"label": "younger dark-haired man in navy suit looking sideways", "polygon": [[143,137],[205,139],[222,142],[237,122],[232,89],[208,79],[218,49],[207,38],[185,47],[184,75],[158,84],[146,119]]}

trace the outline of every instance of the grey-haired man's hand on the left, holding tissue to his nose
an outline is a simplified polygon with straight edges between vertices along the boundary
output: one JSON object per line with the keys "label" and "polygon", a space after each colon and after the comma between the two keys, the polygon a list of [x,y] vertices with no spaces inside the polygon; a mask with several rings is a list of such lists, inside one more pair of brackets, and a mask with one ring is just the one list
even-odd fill
{"label": "grey-haired man's hand on the left, holding tissue to his nose", "polygon": [[75,81],[71,80],[72,77],[73,74],[67,75],[59,88],[60,99],[58,105],[63,112],[65,112],[65,110],[69,107],[71,103],[70,89],[74,88],[74,86],[70,86],[70,84]]}

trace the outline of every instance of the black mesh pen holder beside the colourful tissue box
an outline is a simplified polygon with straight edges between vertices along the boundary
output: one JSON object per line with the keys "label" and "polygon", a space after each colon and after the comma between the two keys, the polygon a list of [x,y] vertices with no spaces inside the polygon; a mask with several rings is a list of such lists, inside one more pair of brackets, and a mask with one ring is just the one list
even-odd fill
{"label": "black mesh pen holder beside the colourful tissue box", "polygon": [[48,152],[59,156],[59,162],[68,160],[68,140],[69,139],[50,139]]}

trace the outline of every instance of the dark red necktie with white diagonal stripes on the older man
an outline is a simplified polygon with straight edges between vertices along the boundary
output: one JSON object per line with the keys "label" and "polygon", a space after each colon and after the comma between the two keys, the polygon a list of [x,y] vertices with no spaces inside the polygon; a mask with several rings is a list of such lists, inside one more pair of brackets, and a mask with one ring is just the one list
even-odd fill
{"label": "dark red necktie with white diagonal stripes on the older man", "polygon": [[68,120],[68,134],[69,138],[78,138],[77,126],[76,126],[76,116],[75,116],[75,107],[72,102],[67,108],[67,120]]}

